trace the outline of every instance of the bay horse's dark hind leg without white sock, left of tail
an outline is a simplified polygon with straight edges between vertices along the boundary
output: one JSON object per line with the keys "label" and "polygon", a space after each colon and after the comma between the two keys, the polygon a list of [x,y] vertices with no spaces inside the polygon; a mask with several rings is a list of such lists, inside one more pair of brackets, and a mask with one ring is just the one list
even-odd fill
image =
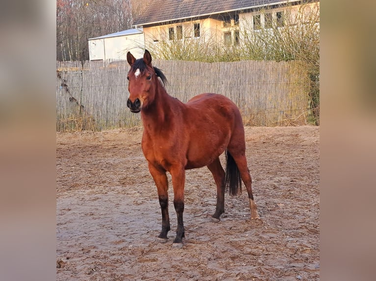
{"label": "bay horse's dark hind leg without white sock, left of tail", "polygon": [[212,172],[215,184],[217,186],[217,205],[212,219],[213,221],[218,222],[219,216],[224,212],[225,173],[222,165],[220,164],[219,158],[215,159],[215,161],[209,164],[208,168]]}

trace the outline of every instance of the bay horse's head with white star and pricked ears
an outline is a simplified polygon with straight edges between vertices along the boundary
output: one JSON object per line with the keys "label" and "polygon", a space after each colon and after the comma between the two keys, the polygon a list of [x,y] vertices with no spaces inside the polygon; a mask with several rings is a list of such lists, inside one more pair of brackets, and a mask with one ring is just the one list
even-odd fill
{"label": "bay horse's head with white star and pricked ears", "polygon": [[148,50],[145,50],[143,58],[137,60],[128,52],[127,61],[131,66],[127,76],[130,94],[127,106],[132,112],[137,113],[142,107],[146,108],[153,103],[159,83],[158,77],[161,77],[163,83],[166,78],[161,70],[152,66],[152,57]]}

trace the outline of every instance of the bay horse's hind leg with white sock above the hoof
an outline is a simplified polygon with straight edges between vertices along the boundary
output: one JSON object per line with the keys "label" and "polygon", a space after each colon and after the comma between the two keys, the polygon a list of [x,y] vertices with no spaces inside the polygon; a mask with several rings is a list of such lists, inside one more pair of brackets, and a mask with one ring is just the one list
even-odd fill
{"label": "bay horse's hind leg with white sock above the hoof", "polygon": [[[245,141],[244,141],[245,142]],[[227,147],[229,153],[234,158],[236,165],[238,166],[242,181],[247,188],[248,198],[249,198],[249,208],[251,209],[251,219],[260,218],[257,212],[257,206],[253,198],[252,193],[252,178],[249,174],[249,169],[247,166],[247,159],[245,157],[245,143],[234,147]]]}

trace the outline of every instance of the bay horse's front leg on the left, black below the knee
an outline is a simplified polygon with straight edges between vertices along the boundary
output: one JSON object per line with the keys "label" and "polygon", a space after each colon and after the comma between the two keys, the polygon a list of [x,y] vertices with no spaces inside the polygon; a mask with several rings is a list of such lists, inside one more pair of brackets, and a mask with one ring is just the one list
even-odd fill
{"label": "bay horse's front leg on the left, black below the knee", "polygon": [[153,176],[158,190],[159,203],[162,211],[162,230],[158,238],[161,243],[166,243],[167,233],[170,231],[170,217],[168,215],[168,181],[166,171],[149,163],[149,171]]}

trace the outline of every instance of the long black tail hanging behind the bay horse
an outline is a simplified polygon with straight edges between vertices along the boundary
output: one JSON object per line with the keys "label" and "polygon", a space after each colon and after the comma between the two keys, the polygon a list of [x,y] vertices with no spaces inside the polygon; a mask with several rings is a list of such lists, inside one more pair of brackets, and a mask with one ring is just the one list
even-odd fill
{"label": "long black tail hanging behind the bay horse", "polygon": [[242,178],[238,166],[232,155],[226,150],[226,173],[225,186],[229,190],[230,195],[234,196],[242,193]]}

